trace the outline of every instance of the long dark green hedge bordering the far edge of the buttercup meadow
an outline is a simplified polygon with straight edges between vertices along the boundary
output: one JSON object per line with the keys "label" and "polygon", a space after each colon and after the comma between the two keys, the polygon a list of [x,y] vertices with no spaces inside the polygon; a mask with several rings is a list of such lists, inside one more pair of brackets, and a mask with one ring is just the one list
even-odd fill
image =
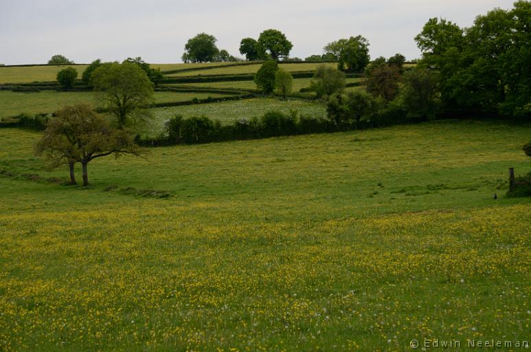
{"label": "long dark green hedge bordering the far edge of the buttercup meadow", "polygon": [[177,115],[166,122],[165,133],[154,138],[137,136],[136,142],[141,146],[200,144],[281,135],[351,131],[409,122],[418,121],[408,119],[404,111],[396,109],[381,111],[373,120],[362,120],[355,124],[336,124],[328,118],[298,116],[296,111],[289,115],[279,111],[269,111],[262,118],[241,119],[227,125],[206,117],[183,118],[181,115]]}

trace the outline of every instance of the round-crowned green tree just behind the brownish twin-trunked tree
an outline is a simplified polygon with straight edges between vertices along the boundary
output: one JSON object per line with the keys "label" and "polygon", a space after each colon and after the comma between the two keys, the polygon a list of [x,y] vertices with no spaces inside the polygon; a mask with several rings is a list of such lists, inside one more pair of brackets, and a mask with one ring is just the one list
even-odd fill
{"label": "round-crowned green tree just behind the brownish twin-trunked tree", "polygon": [[92,83],[122,129],[128,118],[152,102],[153,85],[138,65],[104,63],[92,74]]}

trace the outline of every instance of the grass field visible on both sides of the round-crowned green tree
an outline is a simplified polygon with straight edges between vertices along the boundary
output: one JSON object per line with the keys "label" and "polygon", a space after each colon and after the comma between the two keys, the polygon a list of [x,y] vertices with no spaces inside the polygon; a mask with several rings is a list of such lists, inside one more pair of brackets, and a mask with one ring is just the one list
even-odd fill
{"label": "grass field visible on both sides of the round-crowned green tree", "polygon": [[[226,94],[181,93],[171,91],[155,92],[155,102],[181,102],[193,98],[221,98]],[[52,113],[64,105],[84,102],[98,104],[90,91],[41,91],[38,93],[21,93],[0,91],[0,118],[20,115],[21,113]]]}

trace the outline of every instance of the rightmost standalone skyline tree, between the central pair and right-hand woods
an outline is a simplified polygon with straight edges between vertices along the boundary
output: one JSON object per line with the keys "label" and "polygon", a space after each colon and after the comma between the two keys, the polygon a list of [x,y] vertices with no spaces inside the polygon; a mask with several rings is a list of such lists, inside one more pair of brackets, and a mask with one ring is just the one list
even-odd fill
{"label": "rightmost standalone skyline tree, between the central pair and right-hand woods", "polygon": [[336,58],[338,68],[344,72],[363,72],[370,61],[369,42],[363,36],[339,39],[326,45],[324,51]]}

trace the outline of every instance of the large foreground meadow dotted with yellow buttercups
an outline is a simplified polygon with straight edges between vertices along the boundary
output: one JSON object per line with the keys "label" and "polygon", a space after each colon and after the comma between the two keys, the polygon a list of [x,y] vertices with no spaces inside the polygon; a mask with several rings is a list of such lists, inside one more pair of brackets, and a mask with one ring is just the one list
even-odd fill
{"label": "large foreground meadow dotted with yellow buttercups", "polygon": [[[1,349],[528,340],[531,200],[503,195],[529,135],[447,121],[152,148],[92,162],[82,188],[45,181],[67,172],[32,155],[39,133],[0,129]],[[127,194],[144,189],[171,197]]]}

